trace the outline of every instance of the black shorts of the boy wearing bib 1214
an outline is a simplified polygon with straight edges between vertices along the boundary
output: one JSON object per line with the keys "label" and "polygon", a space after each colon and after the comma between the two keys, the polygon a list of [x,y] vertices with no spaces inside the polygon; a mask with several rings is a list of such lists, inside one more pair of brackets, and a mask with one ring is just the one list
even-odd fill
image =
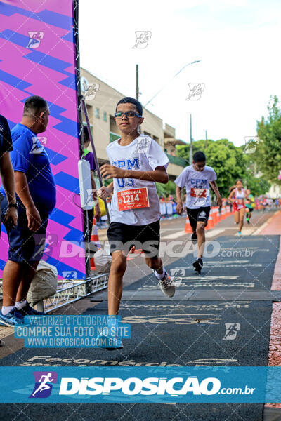
{"label": "black shorts of the boy wearing bib 1214", "polygon": [[124,250],[128,254],[133,246],[142,249],[145,257],[157,258],[160,243],[160,221],[148,225],[126,225],[121,222],[110,222],[107,229],[110,243],[110,254],[117,250]]}

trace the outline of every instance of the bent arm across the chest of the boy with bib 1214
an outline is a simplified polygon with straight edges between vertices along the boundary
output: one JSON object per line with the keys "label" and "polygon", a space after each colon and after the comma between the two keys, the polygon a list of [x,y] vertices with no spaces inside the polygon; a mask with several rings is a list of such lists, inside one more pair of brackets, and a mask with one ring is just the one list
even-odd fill
{"label": "bent arm across the chest of the boy with bib 1214", "polygon": [[108,178],[136,178],[138,180],[162,182],[163,184],[169,181],[169,175],[164,166],[159,166],[152,171],[135,171],[122,170],[122,168],[105,163],[100,167],[100,174]]}

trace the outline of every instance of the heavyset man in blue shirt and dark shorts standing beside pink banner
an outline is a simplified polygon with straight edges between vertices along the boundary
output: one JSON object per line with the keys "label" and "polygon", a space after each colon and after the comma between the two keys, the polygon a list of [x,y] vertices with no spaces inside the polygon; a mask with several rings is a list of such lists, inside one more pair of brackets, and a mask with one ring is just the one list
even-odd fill
{"label": "heavyset man in blue shirt and dark shorts standing beside pink banner", "polygon": [[[44,147],[37,138],[46,131],[50,112],[46,100],[32,96],[25,101],[22,121],[11,131],[11,162],[15,172],[18,225],[7,225],[9,250],[3,272],[3,306],[0,324],[15,326],[25,315],[42,314],[26,301],[30,283],[44,252],[48,215],[55,207],[55,180]],[[5,195],[3,187],[1,194]],[[1,202],[2,213],[8,208]]]}

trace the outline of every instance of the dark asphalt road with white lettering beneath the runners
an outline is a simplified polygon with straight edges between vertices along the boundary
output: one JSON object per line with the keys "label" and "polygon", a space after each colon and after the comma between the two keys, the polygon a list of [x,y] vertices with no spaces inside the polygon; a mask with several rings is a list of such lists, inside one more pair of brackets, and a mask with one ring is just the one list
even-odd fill
{"label": "dark asphalt road with white lettering beneath the runners", "polygon": [[[279,218],[279,217],[278,217]],[[266,222],[271,232],[263,234]],[[266,366],[270,346],[272,279],[280,250],[273,212],[254,213],[252,224],[237,237],[233,217],[207,232],[209,257],[201,276],[192,272],[193,251],[182,253],[185,220],[162,222],[164,264],[177,292],[166,299],[145,267],[143,258],[129,260],[121,307],[131,323],[132,339],[122,351],[103,349],[25,349],[22,341],[4,335],[4,366]],[[279,223],[279,222],[278,222]],[[274,235],[272,235],[274,234]],[[181,241],[183,243],[173,243]],[[167,248],[168,246],[168,248]],[[280,260],[281,262],[281,260]],[[280,295],[279,295],[280,297]],[[276,298],[278,299],[278,297]],[[280,299],[280,298],[279,298]],[[81,300],[58,314],[105,314],[106,294]],[[98,301],[99,300],[99,301]],[[63,310],[63,311],[62,311]],[[1,332],[0,332],[1,334]],[[274,345],[273,345],[274,346]],[[272,365],[275,365],[274,360]],[[59,412],[58,412],[59,408]],[[22,411],[20,413],[20,410]],[[273,421],[280,409],[256,404],[113,404],[48,405],[40,413],[57,420],[187,420]],[[148,416],[149,413],[149,416]],[[2,415],[1,415],[2,414]],[[1,405],[0,420],[37,420],[38,406]],[[93,415],[94,414],[94,415]]]}

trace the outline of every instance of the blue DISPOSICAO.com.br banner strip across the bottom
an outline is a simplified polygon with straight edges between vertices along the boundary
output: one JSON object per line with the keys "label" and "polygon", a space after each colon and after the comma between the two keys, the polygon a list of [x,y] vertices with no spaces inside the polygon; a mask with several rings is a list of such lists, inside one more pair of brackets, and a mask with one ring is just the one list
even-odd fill
{"label": "blue DISPOSICAO.com.br banner strip across the bottom", "polygon": [[281,367],[0,367],[1,403],[280,403]]}

